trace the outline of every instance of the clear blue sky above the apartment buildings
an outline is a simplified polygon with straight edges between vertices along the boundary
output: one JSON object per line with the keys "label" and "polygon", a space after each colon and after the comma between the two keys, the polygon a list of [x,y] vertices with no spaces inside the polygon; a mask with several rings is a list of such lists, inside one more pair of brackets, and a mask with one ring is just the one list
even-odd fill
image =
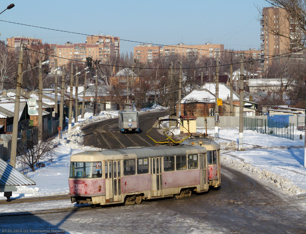
{"label": "clear blue sky above the apartment buildings", "polygon": [[[2,0],[0,12],[15,7],[0,20],[83,34],[108,34],[120,39],[162,45],[224,44],[227,49],[260,47],[258,7],[264,0],[155,0],[155,1],[16,1]],[[85,35],[57,32],[0,21],[0,39],[24,36],[43,43],[85,42]],[[120,41],[120,52],[139,43]]]}

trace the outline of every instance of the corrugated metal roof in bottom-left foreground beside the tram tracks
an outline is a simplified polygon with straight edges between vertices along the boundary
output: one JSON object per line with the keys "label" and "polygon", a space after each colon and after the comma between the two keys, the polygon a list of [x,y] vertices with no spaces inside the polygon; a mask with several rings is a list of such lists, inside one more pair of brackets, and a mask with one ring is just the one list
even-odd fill
{"label": "corrugated metal roof in bottom-left foreground beside the tram tracks", "polygon": [[35,185],[36,182],[0,158],[0,185]]}

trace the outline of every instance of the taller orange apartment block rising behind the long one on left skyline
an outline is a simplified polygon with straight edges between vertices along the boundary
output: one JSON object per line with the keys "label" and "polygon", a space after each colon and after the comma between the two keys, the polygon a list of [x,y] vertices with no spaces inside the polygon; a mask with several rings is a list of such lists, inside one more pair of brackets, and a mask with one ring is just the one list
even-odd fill
{"label": "taller orange apartment block rising behind the long one on left skyline", "polygon": [[111,35],[92,35],[86,39],[87,45],[99,45],[99,51],[103,51],[100,48],[114,47],[114,55],[120,56],[120,39]]}

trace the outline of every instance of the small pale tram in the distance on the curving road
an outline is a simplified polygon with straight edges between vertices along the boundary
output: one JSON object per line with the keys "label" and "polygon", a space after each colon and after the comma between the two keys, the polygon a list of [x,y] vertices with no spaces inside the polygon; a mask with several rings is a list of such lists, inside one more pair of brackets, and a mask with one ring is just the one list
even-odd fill
{"label": "small pale tram in the distance on the curving road", "polygon": [[118,111],[119,130],[121,133],[138,132],[138,111],[132,109],[124,109]]}

